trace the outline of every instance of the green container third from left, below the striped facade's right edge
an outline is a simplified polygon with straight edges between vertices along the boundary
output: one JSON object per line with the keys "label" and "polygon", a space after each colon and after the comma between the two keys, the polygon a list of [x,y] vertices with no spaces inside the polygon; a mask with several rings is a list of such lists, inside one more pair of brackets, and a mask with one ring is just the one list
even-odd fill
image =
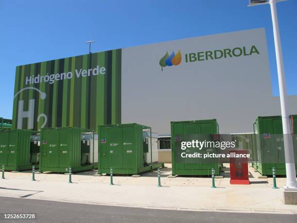
{"label": "green container third from left, below the striped facade's right edge", "polygon": [[99,173],[139,174],[163,164],[147,164],[144,154],[147,152],[144,143],[150,143],[143,137],[143,130],[148,126],[132,123],[117,125],[99,125]]}

